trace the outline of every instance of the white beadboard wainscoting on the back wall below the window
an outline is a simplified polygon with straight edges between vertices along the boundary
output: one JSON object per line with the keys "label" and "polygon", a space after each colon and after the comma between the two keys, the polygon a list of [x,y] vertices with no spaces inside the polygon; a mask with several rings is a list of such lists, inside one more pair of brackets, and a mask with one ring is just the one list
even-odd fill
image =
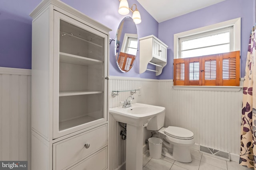
{"label": "white beadboard wainscoting on the back wall below the window", "polygon": [[242,89],[237,88],[238,92],[174,90],[172,86],[172,81],[163,80],[158,86],[157,104],[166,107],[164,125],[189,129],[196,144],[228,151],[230,158],[238,162]]}

